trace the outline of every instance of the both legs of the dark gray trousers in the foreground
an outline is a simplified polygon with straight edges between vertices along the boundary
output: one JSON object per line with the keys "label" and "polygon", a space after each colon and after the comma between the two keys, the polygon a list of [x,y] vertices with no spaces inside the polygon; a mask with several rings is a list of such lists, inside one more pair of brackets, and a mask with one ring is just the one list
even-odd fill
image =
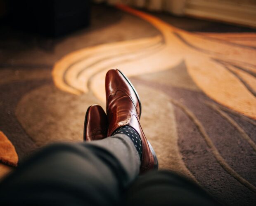
{"label": "both legs of the dark gray trousers in the foreground", "polygon": [[217,205],[200,187],[167,171],[140,176],[123,192],[139,166],[124,135],[51,145],[0,183],[0,205]]}

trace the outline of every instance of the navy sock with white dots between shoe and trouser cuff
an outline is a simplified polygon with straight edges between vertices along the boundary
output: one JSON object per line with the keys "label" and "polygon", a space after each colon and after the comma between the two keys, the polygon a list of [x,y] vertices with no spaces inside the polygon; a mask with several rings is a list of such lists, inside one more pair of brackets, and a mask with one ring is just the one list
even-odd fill
{"label": "navy sock with white dots between shoe and trouser cuff", "polygon": [[133,144],[135,145],[136,150],[139,153],[140,159],[142,157],[142,143],[141,143],[141,139],[140,139],[140,135],[137,133],[137,131],[135,129],[133,129],[133,127],[131,126],[121,126],[118,129],[116,129],[113,133],[112,136],[115,134],[125,134],[128,137],[130,137],[130,139],[133,141]]}

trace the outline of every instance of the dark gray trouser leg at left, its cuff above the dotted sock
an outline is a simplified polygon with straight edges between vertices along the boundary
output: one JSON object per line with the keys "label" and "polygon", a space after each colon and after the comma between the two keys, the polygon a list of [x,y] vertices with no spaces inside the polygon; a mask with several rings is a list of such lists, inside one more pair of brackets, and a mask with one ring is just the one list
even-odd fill
{"label": "dark gray trouser leg at left, its cuff above the dotted sock", "polygon": [[116,205],[139,167],[125,135],[51,145],[0,183],[0,205]]}

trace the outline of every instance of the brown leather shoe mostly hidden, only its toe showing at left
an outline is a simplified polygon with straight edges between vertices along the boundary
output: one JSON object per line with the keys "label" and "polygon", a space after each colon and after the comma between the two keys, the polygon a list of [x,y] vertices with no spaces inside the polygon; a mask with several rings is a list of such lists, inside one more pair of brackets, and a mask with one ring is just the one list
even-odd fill
{"label": "brown leather shoe mostly hidden, only its toe showing at left", "polygon": [[83,129],[83,140],[101,140],[107,137],[107,115],[100,105],[92,105],[87,109]]}

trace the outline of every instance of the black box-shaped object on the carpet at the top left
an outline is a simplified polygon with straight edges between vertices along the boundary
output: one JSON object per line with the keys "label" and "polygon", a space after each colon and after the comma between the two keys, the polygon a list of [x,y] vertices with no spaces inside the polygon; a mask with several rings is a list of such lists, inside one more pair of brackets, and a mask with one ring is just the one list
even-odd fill
{"label": "black box-shaped object on the carpet at the top left", "polygon": [[90,0],[10,0],[14,26],[47,36],[61,36],[90,23]]}

